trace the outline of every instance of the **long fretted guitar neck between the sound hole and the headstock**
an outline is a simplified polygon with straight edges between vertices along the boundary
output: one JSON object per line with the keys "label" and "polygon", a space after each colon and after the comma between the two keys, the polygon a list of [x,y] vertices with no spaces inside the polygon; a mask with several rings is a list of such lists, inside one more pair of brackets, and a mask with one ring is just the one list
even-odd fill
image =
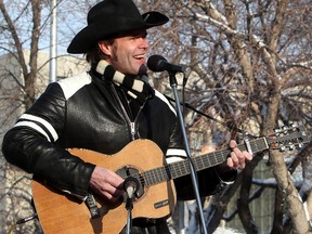
{"label": "long fretted guitar neck between the sound hole and the headstock", "polygon": [[[248,151],[247,144],[239,144],[237,147],[240,151]],[[262,152],[269,148],[265,138],[260,138],[249,141],[250,150],[252,153]],[[248,146],[249,147],[249,146]],[[220,164],[223,164],[229,154],[230,150],[224,148],[216,151],[209,154],[192,157],[193,165],[196,171],[200,171]],[[188,160],[181,160],[172,164],[168,164],[165,167],[158,167],[153,170],[148,170],[142,173],[144,183],[146,186],[157,184],[164,181],[169,181],[191,173]]]}

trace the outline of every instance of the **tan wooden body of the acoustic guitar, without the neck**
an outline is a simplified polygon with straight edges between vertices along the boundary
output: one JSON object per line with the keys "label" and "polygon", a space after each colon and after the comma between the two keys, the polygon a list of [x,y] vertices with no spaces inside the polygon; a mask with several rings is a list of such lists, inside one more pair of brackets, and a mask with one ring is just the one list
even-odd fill
{"label": "tan wooden body of the acoustic guitar, without the neck", "polygon": [[[88,150],[69,150],[70,154],[82,160],[110,169],[113,171],[131,168],[140,173],[162,167],[166,161],[160,148],[150,140],[136,140],[119,153],[104,155]],[[120,233],[127,224],[126,204],[112,206],[94,195],[100,218],[91,219],[86,203],[72,195],[47,186],[39,180],[32,181],[35,207],[44,233]],[[132,219],[158,219],[169,216],[176,205],[173,181],[165,181],[153,186],[143,186],[143,194],[133,202]]]}

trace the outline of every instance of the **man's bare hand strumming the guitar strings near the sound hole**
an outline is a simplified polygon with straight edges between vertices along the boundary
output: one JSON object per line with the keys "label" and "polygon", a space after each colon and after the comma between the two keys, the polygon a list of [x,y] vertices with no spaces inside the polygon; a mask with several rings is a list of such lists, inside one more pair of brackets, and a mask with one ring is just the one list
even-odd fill
{"label": "man's bare hand strumming the guitar strings near the sound hole", "polygon": [[90,180],[92,190],[113,204],[123,194],[122,183],[123,179],[117,173],[98,166]]}

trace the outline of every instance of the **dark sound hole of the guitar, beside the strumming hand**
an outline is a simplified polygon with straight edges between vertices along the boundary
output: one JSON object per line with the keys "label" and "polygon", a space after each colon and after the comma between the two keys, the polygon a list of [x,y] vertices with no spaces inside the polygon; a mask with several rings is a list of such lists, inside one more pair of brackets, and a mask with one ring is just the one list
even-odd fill
{"label": "dark sound hole of the guitar, beside the strumming hand", "polygon": [[[135,199],[140,198],[144,194],[144,180],[138,169],[132,168],[130,166],[123,166],[122,168],[118,169],[116,173],[122,177],[123,179],[127,179],[128,177],[133,177],[139,181],[139,187],[135,192]],[[126,203],[126,200],[127,200],[127,194],[125,192],[123,203]]]}

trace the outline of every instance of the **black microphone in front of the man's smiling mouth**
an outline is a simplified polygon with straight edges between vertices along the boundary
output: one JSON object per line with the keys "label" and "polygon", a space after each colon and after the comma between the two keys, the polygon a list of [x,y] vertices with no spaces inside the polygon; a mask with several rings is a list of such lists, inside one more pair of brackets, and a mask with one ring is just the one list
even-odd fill
{"label": "black microphone in front of the man's smiling mouth", "polygon": [[147,60],[147,67],[153,72],[184,73],[185,67],[168,63],[161,55],[154,54]]}

